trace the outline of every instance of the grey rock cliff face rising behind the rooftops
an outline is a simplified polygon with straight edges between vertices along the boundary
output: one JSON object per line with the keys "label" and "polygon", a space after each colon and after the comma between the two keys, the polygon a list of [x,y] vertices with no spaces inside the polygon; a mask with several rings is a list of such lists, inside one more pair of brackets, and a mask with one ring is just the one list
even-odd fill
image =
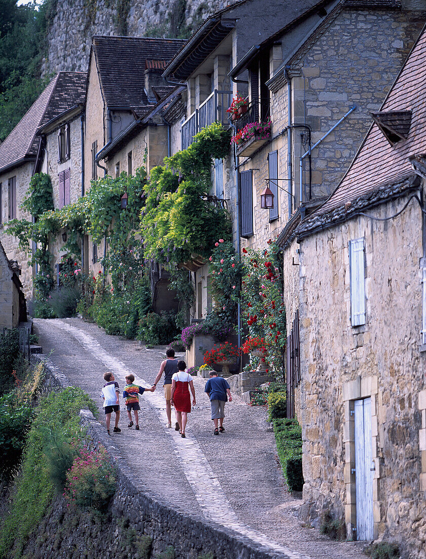
{"label": "grey rock cliff face rising behind the rooftops", "polygon": [[87,69],[93,35],[186,38],[235,0],[51,0],[42,74]]}

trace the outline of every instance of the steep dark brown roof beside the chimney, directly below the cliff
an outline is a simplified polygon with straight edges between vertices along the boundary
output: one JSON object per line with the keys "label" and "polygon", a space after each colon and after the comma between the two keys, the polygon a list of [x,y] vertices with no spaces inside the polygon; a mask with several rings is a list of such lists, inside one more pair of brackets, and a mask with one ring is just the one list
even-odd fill
{"label": "steep dark brown roof beside the chimney, directly below the cliff", "polygon": [[147,60],[161,64],[171,60],[185,42],[181,39],[94,36],[92,49],[107,106],[133,110],[138,116],[146,112],[152,106],[144,91]]}

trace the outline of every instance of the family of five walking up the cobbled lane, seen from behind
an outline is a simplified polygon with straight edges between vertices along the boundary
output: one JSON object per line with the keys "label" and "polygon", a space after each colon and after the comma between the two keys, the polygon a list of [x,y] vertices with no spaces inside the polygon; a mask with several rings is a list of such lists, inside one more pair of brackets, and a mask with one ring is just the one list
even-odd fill
{"label": "family of five walking up the cobbled lane, seen from behind", "polygon": [[[185,361],[175,358],[175,351],[168,349],[166,359],[161,363],[158,374],[151,388],[143,388],[134,384],[134,376],[127,375],[125,377],[126,385],[124,387],[123,397],[126,399],[127,416],[129,419],[128,428],[135,425],[135,429],[139,430],[139,414],[141,409],[139,406],[139,394],[144,392],[154,392],[158,382],[164,373],[163,389],[164,399],[166,400],[167,428],[172,428],[172,406],[175,408],[176,424],[175,429],[182,438],[186,438],[185,428],[188,421],[188,413],[191,413],[191,394],[192,405],[195,406],[195,389],[191,375],[185,372]],[[119,395],[120,388],[118,382],[115,381],[113,373],[105,373],[105,385],[101,391],[101,397],[104,399],[105,424],[107,425],[108,434],[110,434],[111,415],[115,413],[114,433],[120,433],[118,427],[120,419]],[[191,391],[191,394],[190,394]],[[210,398],[211,419],[214,422],[214,434],[223,433],[225,418],[225,402],[232,401],[230,386],[224,378],[218,377],[215,371],[210,372],[210,378],[206,383],[204,390]],[[134,422],[132,420],[132,411],[134,414]],[[219,425],[219,427],[218,427]]]}

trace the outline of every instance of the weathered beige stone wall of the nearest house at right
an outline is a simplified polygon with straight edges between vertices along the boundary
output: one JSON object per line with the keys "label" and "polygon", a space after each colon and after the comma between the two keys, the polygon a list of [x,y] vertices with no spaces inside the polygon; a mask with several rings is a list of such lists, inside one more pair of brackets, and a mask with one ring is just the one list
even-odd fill
{"label": "weathered beige stone wall of the nearest house at right", "polygon": [[[394,215],[406,199],[368,213]],[[366,324],[352,327],[348,241],[362,237]],[[419,443],[418,402],[426,354],[420,352],[419,206],[411,202],[391,221],[360,216],[309,236],[301,241],[300,257],[304,517],[312,520],[330,510],[333,518],[346,519],[348,532],[354,527],[351,410],[354,400],[371,397],[375,537],[396,540],[410,558],[423,559],[426,501],[420,473],[426,447]]]}

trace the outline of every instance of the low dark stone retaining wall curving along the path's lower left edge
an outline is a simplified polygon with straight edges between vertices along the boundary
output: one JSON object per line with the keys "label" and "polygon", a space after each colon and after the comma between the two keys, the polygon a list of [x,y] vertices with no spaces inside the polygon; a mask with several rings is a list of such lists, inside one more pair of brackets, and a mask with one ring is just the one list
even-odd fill
{"label": "low dark stone retaining wall curving along the path's lower left edge", "polygon": [[[46,361],[46,356],[33,356]],[[71,386],[61,371],[47,360],[45,385]],[[67,510],[66,502],[57,498],[46,514],[36,537],[31,538],[23,555],[49,557],[55,549],[59,559],[95,559],[101,556],[141,557],[130,549],[126,537],[127,527],[135,529],[136,536],[152,538],[155,557],[168,546],[175,549],[176,559],[199,559],[212,553],[220,559],[272,559],[280,554],[267,553],[249,538],[219,526],[205,518],[197,518],[186,510],[172,508],[166,502],[149,495],[149,488],[137,481],[127,463],[111,442],[103,425],[88,409],[81,410],[81,424],[88,431],[93,444],[103,444],[111,461],[117,467],[118,486],[109,508],[108,524],[96,522],[96,516]],[[114,555],[119,553],[119,555]],[[124,554],[124,555],[122,555]]]}

